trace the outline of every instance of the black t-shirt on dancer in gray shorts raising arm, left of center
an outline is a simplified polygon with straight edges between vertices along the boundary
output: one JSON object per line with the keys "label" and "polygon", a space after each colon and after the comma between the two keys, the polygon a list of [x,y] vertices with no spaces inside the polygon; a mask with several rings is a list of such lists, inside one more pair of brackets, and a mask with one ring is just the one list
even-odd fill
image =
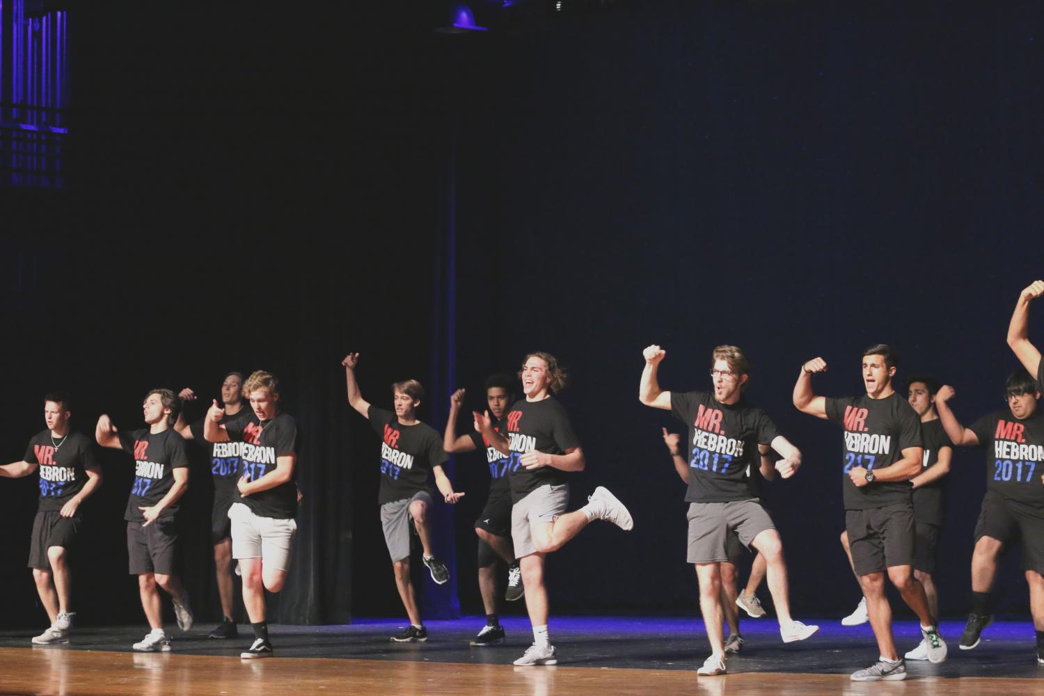
{"label": "black t-shirt on dancer in gray shorts raising arm, left of center", "polygon": [[381,436],[381,488],[377,502],[383,505],[412,498],[428,488],[428,472],[449,457],[443,438],[424,423],[404,426],[394,411],[370,407],[370,426]]}

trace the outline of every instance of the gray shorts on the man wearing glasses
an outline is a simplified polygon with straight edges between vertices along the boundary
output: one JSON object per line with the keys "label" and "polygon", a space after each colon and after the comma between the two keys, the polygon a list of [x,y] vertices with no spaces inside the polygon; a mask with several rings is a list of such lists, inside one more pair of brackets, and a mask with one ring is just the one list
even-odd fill
{"label": "gray shorts on the man wearing glasses", "polygon": [[720,563],[735,560],[734,536],[750,547],[755,536],[776,529],[773,519],[757,499],[729,503],[689,503],[689,552],[687,562]]}

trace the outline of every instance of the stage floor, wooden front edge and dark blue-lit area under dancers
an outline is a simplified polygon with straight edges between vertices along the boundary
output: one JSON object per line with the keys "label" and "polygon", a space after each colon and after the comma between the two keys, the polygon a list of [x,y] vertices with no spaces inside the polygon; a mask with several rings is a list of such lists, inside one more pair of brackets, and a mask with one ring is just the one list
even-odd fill
{"label": "stage floor, wooden front edge and dark blue-lit area under dancers", "polygon": [[[275,626],[277,657],[260,661],[237,656],[248,638],[208,641],[209,624],[175,634],[168,653],[129,651],[143,627],[82,628],[75,643],[46,647],[28,647],[31,631],[0,631],[0,696],[1044,696],[1028,622],[998,622],[973,651],[956,649],[958,622],[944,623],[952,646],[945,664],[910,664],[905,681],[857,683],[848,674],[873,658],[873,639],[869,628],[843,629],[836,620],[822,621],[821,634],[799,647],[780,644],[774,622],[746,622],[743,654],[729,661],[723,677],[695,674],[707,652],[698,620],[559,619],[552,638],[563,664],[528,668],[511,664],[528,642],[524,620],[508,623],[508,645],[484,649],[468,647],[476,621],[430,622],[432,639],[406,646],[387,642],[394,623]],[[915,638],[906,623],[896,627],[901,645]]]}

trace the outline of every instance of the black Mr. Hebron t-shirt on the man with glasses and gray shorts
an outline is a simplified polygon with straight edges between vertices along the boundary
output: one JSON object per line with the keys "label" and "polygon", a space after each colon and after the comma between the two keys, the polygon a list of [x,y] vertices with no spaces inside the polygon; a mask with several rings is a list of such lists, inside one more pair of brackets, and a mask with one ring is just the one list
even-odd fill
{"label": "black Mr. Hebron t-shirt on the man with glasses and gray shorts", "polygon": [[689,427],[689,503],[728,503],[759,494],[758,445],[780,432],[768,414],[740,400],[721,404],[708,391],[670,392],[671,414]]}

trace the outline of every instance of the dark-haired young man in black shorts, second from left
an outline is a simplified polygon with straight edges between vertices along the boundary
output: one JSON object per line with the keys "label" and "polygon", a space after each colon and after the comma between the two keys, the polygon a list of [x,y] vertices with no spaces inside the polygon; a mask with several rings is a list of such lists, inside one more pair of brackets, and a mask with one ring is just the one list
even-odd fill
{"label": "dark-haired young man in black shorts, second from left", "polygon": [[141,606],[151,630],[132,647],[141,652],[170,650],[163,629],[163,610],[157,585],[170,595],[177,627],[192,627],[188,593],[174,574],[177,500],[189,485],[189,458],[185,440],[173,426],[181,399],[170,389],[145,394],[142,410],[148,428],[121,433],[102,414],[95,427],[101,447],[123,450],[135,458],[135,480],[123,519],[127,523],[127,555],[132,575],[138,576]]}

